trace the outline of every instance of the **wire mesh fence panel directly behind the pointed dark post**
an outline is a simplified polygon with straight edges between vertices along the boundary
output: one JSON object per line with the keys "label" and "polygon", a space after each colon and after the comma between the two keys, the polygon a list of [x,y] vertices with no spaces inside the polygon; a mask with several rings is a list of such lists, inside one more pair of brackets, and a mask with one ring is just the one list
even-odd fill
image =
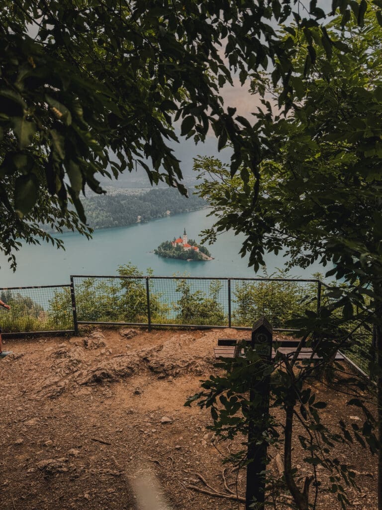
{"label": "wire mesh fence panel directly behind the pointed dark post", "polygon": [[317,311],[318,290],[316,280],[232,278],[232,326],[264,316],[275,329],[293,329],[289,321]]}

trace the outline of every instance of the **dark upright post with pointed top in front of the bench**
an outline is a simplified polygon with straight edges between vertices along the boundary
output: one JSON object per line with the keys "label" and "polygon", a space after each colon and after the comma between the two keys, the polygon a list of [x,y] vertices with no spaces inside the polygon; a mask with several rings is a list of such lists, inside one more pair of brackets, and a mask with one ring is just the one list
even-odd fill
{"label": "dark upright post with pointed top in front of the bench", "polygon": [[[269,364],[272,360],[272,327],[261,318],[252,329],[251,345],[261,357],[259,364]],[[265,367],[264,367],[265,368]],[[265,470],[267,442],[262,440],[262,432],[269,416],[270,376],[253,376],[250,389],[247,488],[245,490],[245,510],[264,510]]]}

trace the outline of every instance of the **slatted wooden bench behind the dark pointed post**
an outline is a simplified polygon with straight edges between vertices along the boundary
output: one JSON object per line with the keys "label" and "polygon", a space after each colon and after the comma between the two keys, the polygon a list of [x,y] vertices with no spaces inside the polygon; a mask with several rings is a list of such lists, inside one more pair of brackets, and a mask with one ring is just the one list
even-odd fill
{"label": "slatted wooden bench behind the dark pointed post", "polygon": [[[213,352],[215,355],[215,359],[219,358],[234,358],[235,357],[235,349],[236,344],[239,342],[242,342],[245,340],[245,342],[251,343],[250,338],[243,338],[243,339],[235,339],[235,338],[219,338],[217,340],[217,347],[213,348]],[[280,340],[279,342],[273,342],[274,346],[275,344],[278,344],[278,351],[282,352],[283,354],[290,354],[292,355],[296,347],[299,344],[298,340]],[[243,350],[241,350],[241,353]],[[314,354],[312,356],[312,348],[311,347],[302,347],[301,352],[299,352],[297,360],[320,360],[320,356],[317,354]],[[275,348],[272,349],[272,358],[275,358],[276,350]],[[336,361],[343,361],[344,357],[341,353],[337,352],[335,356]]]}

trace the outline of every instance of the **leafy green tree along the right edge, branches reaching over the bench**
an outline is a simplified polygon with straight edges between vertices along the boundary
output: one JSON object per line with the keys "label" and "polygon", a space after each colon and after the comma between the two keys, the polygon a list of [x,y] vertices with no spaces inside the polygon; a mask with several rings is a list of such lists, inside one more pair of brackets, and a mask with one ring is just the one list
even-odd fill
{"label": "leafy green tree along the right edge, branches reaching over the bench", "polygon": [[[378,2],[374,4],[379,6]],[[365,6],[366,2],[361,7]],[[258,192],[255,177],[245,176],[245,170],[240,176],[231,178],[229,169],[212,159],[199,160],[196,167],[206,176],[200,186],[201,194],[210,201],[212,212],[219,216],[214,231],[207,232],[207,237],[213,239],[217,232],[229,229],[244,234],[241,253],[250,254],[250,263],[255,269],[264,263],[264,253],[278,253],[284,249],[290,265],[309,267],[316,260],[324,265],[330,263],[334,268],[326,275],[335,274],[338,279],[343,279],[345,285],[337,284],[335,289],[328,290],[330,299],[321,302],[317,312],[307,310],[294,321],[303,335],[308,337],[310,334],[309,341],[322,357],[322,366],[330,362],[336,349],[343,348],[349,341],[354,343],[350,349],[355,347],[357,353],[357,337],[364,336],[369,330],[370,339],[370,328],[374,327],[372,350],[376,363],[370,363],[368,369],[377,379],[377,417],[366,405],[373,397],[363,391],[360,393],[360,387],[364,390],[365,386],[356,381],[351,391],[361,394],[362,398],[351,399],[349,405],[356,405],[364,412],[364,422],[349,429],[344,421],[340,421],[339,429],[341,441],[357,440],[368,445],[373,453],[378,452],[380,509],[382,31],[380,11],[376,12],[377,18],[372,13],[367,14],[360,23],[361,27],[358,25],[359,16],[354,17],[349,12],[345,31],[341,25],[346,18],[333,20],[326,26],[330,45],[315,33],[315,29],[310,34],[298,35],[302,50],[295,54],[293,62],[297,73],[305,66],[312,38],[321,47],[316,48],[314,65],[306,79],[292,78],[295,104],[289,115],[280,115],[272,109],[269,99],[277,97],[278,90],[272,87],[270,81],[253,82],[253,91],[263,95],[262,109],[257,114],[259,136],[263,143]],[[284,36],[289,38],[290,32],[284,32]],[[339,54],[338,47],[342,47],[345,54]],[[330,62],[327,60],[328,53]],[[215,182],[211,182],[211,173],[215,173]],[[358,331],[354,331],[356,327]],[[372,360],[369,356],[365,357],[366,361]],[[333,462],[337,460],[332,457],[331,445],[327,441],[329,433],[334,432],[322,428],[317,413],[307,408],[310,398],[307,401],[302,382],[309,380],[312,369],[306,366],[296,375],[295,360],[291,362],[282,358],[279,367],[282,368],[278,374],[282,385],[276,384],[272,392],[284,412],[284,430],[289,429],[284,442],[284,475],[294,502],[301,510],[313,504],[302,483],[295,478],[290,462],[292,425],[294,420],[298,420],[305,428],[303,446],[307,451],[306,461],[331,471],[333,492],[337,493],[345,508],[348,506],[346,489],[339,481],[343,477],[348,483],[349,478],[342,467],[335,473],[337,468]],[[275,376],[277,368],[273,368]],[[263,370],[266,369],[263,367]],[[251,368],[248,368],[248,376],[250,371]],[[206,382],[204,388],[208,391],[201,398],[207,397],[208,402],[214,402],[226,390],[233,394],[232,384],[229,377],[224,383],[214,381],[208,386]],[[372,389],[371,386],[369,388]],[[243,388],[237,385],[236,391],[242,393]],[[229,404],[223,403],[222,413],[230,413]],[[303,407],[299,407],[301,403]],[[215,411],[214,423],[219,428],[222,425],[218,416],[221,412]],[[235,408],[232,417],[240,411],[241,405]],[[312,437],[312,430],[318,431],[319,435]],[[328,448],[325,455],[322,455],[324,450],[320,452],[323,445]],[[311,461],[308,461],[309,456]],[[348,469],[348,466],[345,465],[345,468]],[[316,477],[316,472],[312,476]],[[314,505],[316,502],[314,499]]]}

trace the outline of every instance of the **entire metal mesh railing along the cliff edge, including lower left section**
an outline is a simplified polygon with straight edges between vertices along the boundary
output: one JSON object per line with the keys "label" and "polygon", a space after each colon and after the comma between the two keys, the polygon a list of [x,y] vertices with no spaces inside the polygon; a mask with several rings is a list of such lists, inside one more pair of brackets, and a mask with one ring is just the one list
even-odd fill
{"label": "entire metal mesh railing along the cliff edge, including lower left section", "polygon": [[[73,275],[70,285],[0,288],[11,305],[0,309],[0,326],[5,336],[78,334],[87,324],[251,329],[265,316],[276,331],[293,332],[291,319],[328,303],[326,288],[318,279]],[[371,343],[360,328],[343,349],[366,373]]]}

